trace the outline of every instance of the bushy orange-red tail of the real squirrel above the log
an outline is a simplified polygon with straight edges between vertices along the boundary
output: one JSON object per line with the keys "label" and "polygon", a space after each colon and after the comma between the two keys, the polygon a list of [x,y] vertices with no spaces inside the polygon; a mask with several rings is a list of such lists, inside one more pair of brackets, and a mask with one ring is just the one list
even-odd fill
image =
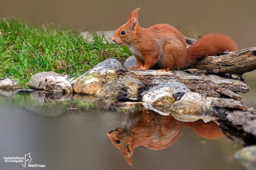
{"label": "bushy orange-red tail of the real squirrel above the log", "polygon": [[188,59],[193,62],[207,55],[220,55],[226,50],[237,51],[236,41],[225,34],[209,33],[188,47]]}

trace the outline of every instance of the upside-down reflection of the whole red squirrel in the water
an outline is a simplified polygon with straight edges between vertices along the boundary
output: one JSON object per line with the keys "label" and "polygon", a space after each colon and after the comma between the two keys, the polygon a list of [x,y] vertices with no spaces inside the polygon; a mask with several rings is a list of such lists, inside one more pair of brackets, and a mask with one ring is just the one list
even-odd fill
{"label": "upside-down reflection of the whole red squirrel in the water", "polygon": [[109,131],[108,136],[132,166],[134,148],[145,146],[151,150],[163,150],[179,139],[183,125],[203,138],[217,139],[223,136],[214,122],[180,122],[171,116],[162,116],[151,110],[135,111],[127,119],[124,128]]}

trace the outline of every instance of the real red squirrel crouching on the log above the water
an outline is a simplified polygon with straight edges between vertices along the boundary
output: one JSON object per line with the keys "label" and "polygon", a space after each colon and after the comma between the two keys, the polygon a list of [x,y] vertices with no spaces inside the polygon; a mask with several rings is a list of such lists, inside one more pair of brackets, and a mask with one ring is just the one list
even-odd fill
{"label": "real red squirrel crouching on the log above the water", "polygon": [[225,50],[237,51],[236,42],[225,34],[209,33],[187,48],[184,36],[169,24],[140,27],[138,12],[132,11],[127,23],[114,34],[112,41],[127,45],[136,57],[137,66],[130,69],[182,69],[195,59],[206,55],[220,55]]}

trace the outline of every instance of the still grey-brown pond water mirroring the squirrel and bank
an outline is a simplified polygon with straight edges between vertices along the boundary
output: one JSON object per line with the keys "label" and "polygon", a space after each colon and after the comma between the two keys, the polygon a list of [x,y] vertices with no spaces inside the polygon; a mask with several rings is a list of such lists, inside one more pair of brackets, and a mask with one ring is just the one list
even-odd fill
{"label": "still grey-brown pond water mirroring the squirrel and bank", "polygon": [[[0,95],[0,169],[22,169],[21,163],[4,162],[3,157],[27,153],[29,164],[45,165],[42,169],[243,169],[232,158],[241,145],[218,138],[214,123],[210,129],[218,139],[206,139],[212,136],[209,131],[195,129],[207,129],[209,125],[202,122],[184,125],[143,109],[121,113],[90,97],[83,101],[81,96],[51,99],[41,92],[4,95]],[[138,121],[140,127],[134,126]],[[108,132],[122,130],[117,127],[147,132],[136,139],[136,146],[144,146],[134,150],[135,144],[127,146],[132,150],[132,167],[109,140]]]}

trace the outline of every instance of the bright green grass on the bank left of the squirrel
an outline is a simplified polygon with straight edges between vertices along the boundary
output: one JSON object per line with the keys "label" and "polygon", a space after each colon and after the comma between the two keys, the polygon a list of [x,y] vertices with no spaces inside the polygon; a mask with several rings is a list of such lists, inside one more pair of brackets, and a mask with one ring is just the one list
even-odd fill
{"label": "bright green grass on the bank left of the squirrel", "polygon": [[0,78],[13,78],[25,88],[38,72],[78,76],[104,59],[124,59],[131,54],[127,47],[104,43],[104,35],[93,34],[93,41],[88,42],[81,31],[55,24],[0,18],[0,32]]}

